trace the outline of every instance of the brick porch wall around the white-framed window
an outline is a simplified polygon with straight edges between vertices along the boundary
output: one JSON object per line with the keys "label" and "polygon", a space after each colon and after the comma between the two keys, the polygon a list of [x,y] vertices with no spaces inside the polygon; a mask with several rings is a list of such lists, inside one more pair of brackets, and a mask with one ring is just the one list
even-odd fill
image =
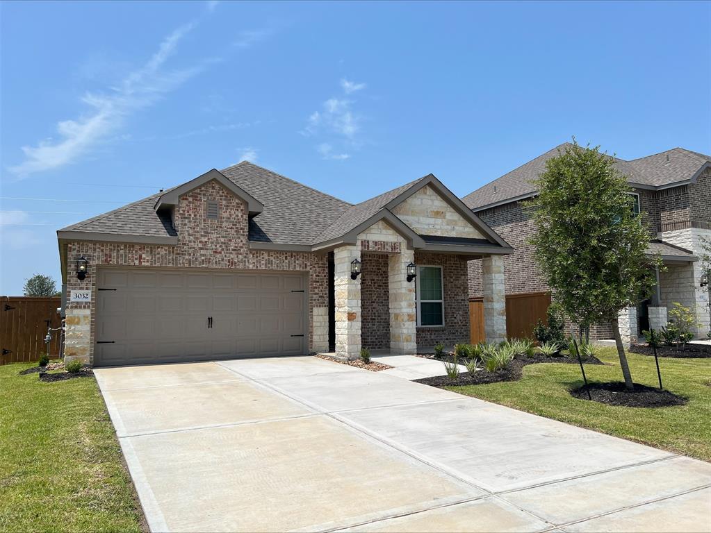
{"label": "brick porch wall around the white-framed window", "polygon": [[469,342],[466,260],[459,255],[416,252],[415,263],[442,266],[444,278],[444,327],[417,328],[417,346],[431,347],[440,342],[445,346],[453,346]]}

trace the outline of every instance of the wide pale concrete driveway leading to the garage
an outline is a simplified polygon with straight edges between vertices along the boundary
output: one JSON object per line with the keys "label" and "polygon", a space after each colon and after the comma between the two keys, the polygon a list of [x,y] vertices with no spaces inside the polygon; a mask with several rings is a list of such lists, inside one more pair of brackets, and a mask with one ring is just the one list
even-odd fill
{"label": "wide pale concrete driveway leading to the garage", "polygon": [[711,464],[314,357],[98,368],[153,531],[711,531]]}

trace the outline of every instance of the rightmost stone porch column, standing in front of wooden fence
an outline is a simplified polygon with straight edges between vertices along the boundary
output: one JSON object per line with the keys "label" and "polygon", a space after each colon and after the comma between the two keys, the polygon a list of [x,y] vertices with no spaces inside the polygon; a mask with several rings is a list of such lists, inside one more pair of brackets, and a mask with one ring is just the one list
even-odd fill
{"label": "rightmost stone porch column, standing in front of wooden fence", "polygon": [[505,341],[506,286],[503,278],[503,255],[489,255],[482,258],[481,288],[486,342],[497,343]]}

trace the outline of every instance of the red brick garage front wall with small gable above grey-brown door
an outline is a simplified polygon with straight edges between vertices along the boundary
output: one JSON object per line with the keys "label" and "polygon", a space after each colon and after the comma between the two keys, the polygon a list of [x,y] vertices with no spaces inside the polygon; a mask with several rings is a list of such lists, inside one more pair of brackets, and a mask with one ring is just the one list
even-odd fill
{"label": "red brick garage front wall with small gable above grey-brown door", "polygon": [[[205,218],[205,201],[220,202],[220,219]],[[183,195],[175,214],[178,246],[140,245],[77,241],[68,244],[67,291],[92,291],[90,304],[67,302],[70,309],[89,308],[91,358],[93,360],[96,270],[100,265],[301,270],[309,273],[309,314],[314,307],[328,307],[328,256],[325,253],[250,251],[247,248],[247,216],[240,199],[216,182],[209,182]],[[228,238],[225,238],[228,236]],[[77,280],[75,262],[80,255],[89,260],[85,280]],[[309,317],[309,347],[313,331]]]}

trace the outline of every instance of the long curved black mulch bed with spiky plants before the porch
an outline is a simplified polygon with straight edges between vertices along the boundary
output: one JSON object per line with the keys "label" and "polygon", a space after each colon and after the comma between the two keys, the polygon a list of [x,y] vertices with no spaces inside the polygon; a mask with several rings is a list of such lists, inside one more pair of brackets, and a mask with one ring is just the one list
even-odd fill
{"label": "long curved black mulch bed with spiky plants before the porch", "polygon": [[[442,356],[442,358],[436,358],[439,361],[452,361],[453,357]],[[461,361],[460,361],[461,362]],[[600,361],[597,357],[583,358],[582,361],[586,365],[603,365],[604,363]],[[484,383],[498,383],[500,381],[518,381],[523,375],[523,367],[526,365],[533,365],[534,363],[567,363],[577,365],[577,358],[570,357],[547,357],[540,353],[536,353],[533,357],[528,356],[517,356],[513,361],[508,363],[508,366],[503,370],[496,370],[495,372],[489,372],[486,368],[478,370],[473,375],[469,372],[464,372],[459,374],[459,378],[456,380],[450,379],[447,375],[438,375],[434,378],[422,378],[419,380],[414,380],[415,383],[423,383],[424,385],[431,385],[432,387],[454,387],[459,385],[482,385]],[[442,372],[444,372],[444,365],[442,365]]]}

